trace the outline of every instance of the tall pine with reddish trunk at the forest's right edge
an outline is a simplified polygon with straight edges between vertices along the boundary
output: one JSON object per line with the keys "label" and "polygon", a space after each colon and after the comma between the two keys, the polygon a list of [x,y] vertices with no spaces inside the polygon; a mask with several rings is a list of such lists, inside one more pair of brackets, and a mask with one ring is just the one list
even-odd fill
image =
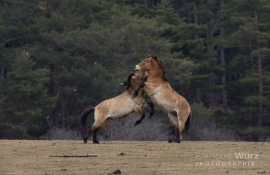
{"label": "tall pine with reddish trunk at the forest's right edge", "polygon": [[250,89],[243,98],[241,112],[252,118],[249,123],[253,127],[246,127],[243,134],[253,134],[256,141],[261,141],[262,134],[270,131],[263,117],[268,116],[266,106],[269,103],[269,10],[270,2],[260,0],[235,0],[227,6],[227,13],[231,15],[229,20],[236,25],[235,31],[228,38],[231,41],[229,44],[242,48],[233,63],[247,67],[244,77],[239,81],[246,83]]}

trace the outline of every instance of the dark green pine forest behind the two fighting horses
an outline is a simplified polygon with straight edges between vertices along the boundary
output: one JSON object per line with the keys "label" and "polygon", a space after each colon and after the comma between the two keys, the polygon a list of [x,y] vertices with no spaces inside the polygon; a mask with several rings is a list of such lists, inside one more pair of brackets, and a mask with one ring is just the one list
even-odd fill
{"label": "dark green pine forest behind the two fighting horses", "polygon": [[0,0],[0,139],[81,128],[83,109],[123,92],[135,64],[158,55],[194,111],[203,104],[217,127],[260,141],[269,12],[269,0]]}

